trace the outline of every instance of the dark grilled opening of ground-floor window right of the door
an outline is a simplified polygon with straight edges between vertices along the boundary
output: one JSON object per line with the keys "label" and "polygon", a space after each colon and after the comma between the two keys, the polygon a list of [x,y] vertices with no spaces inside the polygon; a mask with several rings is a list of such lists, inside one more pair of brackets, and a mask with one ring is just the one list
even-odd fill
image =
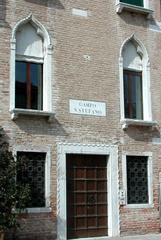
{"label": "dark grilled opening of ground-floor window right of the door", "polygon": [[148,203],[148,157],[127,156],[127,203]]}

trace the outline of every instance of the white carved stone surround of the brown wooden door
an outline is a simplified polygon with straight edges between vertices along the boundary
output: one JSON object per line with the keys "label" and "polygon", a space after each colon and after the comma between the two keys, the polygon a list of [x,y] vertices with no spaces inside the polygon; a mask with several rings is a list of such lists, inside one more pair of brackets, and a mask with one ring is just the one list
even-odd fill
{"label": "white carved stone surround of the brown wooden door", "polygon": [[[67,240],[66,154],[106,155],[108,159],[108,236],[119,236],[118,147],[101,144],[59,143],[57,146],[57,239]],[[81,238],[102,240],[104,237]]]}

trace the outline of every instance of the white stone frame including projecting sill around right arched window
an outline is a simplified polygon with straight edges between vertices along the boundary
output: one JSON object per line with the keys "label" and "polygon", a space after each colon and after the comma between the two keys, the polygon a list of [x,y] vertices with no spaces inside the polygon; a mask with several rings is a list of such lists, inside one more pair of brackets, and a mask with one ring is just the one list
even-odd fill
{"label": "white stone frame including projecting sill around right arched window", "polygon": [[[142,55],[142,91],[143,91],[143,119],[126,119],[125,108],[124,108],[124,66],[123,66],[123,49],[129,41],[135,41],[138,45],[137,51]],[[130,70],[130,69],[129,69]],[[135,71],[135,69],[133,69]],[[152,109],[151,109],[151,88],[150,88],[150,61],[148,53],[142,42],[132,34],[127,38],[120,48],[119,55],[119,78],[120,78],[120,113],[122,128],[126,130],[130,125],[139,126],[154,126],[157,124],[156,121],[152,120]]]}

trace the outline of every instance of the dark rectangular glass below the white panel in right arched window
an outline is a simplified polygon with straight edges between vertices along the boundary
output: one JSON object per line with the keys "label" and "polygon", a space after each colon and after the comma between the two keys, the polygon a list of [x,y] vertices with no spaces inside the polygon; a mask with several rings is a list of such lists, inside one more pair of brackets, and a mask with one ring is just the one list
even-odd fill
{"label": "dark rectangular glass below the white panel in right arched window", "polygon": [[143,119],[142,72],[124,70],[125,118]]}

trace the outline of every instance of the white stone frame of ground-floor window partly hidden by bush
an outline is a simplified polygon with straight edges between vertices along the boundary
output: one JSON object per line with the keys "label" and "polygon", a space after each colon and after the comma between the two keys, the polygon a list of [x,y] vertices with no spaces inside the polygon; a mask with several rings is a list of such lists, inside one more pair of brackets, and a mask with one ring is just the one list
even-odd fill
{"label": "white stone frame of ground-floor window partly hidden by bush", "polygon": [[[50,206],[50,196],[51,196],[51,185],[50,185],[50,171],[51,171],[51,154],[50,154],[50,148],[42,147],[42,146],[35,146],[35,147],[24,147],[24,146],[15,146],[13,147],[13,155],[15,159],[17,158],[17,152],[36,152],[36,153],[46,153],[45,158],[45,207],[41,208],[26,208],[27,213],[45,213],[45,212],[51,212],[51,206]],[[26,211],[25,210],[25,211]]]}

